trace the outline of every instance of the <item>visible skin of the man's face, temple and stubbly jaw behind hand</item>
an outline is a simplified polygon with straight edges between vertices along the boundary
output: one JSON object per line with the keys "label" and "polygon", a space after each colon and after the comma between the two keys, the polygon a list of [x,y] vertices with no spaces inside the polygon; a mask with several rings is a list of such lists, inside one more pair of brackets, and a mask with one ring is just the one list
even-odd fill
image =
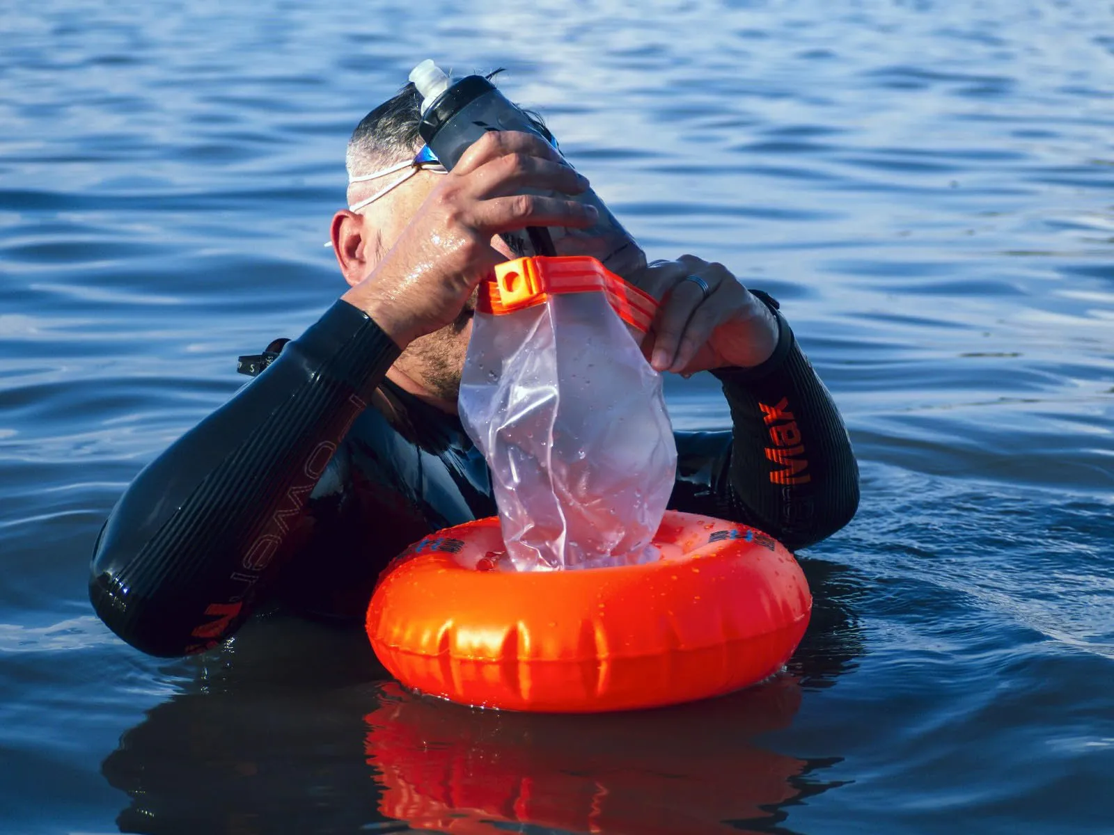
{"label": "visible skin of the man's face, temple and stubbly jaw behind hand", "polygon": [[[398,175],[387,175],[351,187],[348,195],[349,205],[354,205],[356,202],[370,197],[390,183],[390,178],[394,176]],[[363,275],[345,276],[350,283],[353,279],[362,281],[374,271],[443,177],[443,174],[418,171],[397,188],[360,209],[360,215],[363,216],[361,236],[367,266]],[[491,245],[508,259],[514,257],[507,244],[498,236],[491,239]],[[472,294],[472,297],[465,305],[465,310],[452,324],[410,343],[402,356],[395,362],[392,371],[395,374],[401,372],[437,397],[456,403],[457,394],[460,391],[460,374],[465,366],[465,354],[472,334],[475,305],[476,294]]]}

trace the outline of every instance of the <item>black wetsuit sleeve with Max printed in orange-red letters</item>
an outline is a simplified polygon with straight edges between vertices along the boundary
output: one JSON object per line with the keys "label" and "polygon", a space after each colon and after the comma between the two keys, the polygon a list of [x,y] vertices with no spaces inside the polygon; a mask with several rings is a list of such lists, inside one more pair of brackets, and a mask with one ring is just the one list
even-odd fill
{"label": "black wetsuit sleeve with Max printed in orange-red letters", "polygon": [[791,549],[831,536],[859,507],[859,468],[831,395],[778,303],[773,355],[754,369],[717,369],[731,432],[677,433],[670,507],[751,524]]}

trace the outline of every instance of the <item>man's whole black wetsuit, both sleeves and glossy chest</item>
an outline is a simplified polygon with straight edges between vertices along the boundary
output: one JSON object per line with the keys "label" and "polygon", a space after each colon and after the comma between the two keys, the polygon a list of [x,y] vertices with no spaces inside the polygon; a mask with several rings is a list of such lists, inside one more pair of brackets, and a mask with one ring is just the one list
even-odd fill
{"label": "man's whole black wetsuit, both sleeves and glossy chest", "polygon": [[[765,363],[713,372],[733,431],[676,433],[670,507],[795,549],[851,519],[859,479],[830,395],[778,321]],[[179,656],[227,638],[264,600],[361,617],[408,544],[495,514],[487,464],[459,419],[385,380],[398,355],[338,302],[144,469],[95,547],[89,593],[109,628]]]}

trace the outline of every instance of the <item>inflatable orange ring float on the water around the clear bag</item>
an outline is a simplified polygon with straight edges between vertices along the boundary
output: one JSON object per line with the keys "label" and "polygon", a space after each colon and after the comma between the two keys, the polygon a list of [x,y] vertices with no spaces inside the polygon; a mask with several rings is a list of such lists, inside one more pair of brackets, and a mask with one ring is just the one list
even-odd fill
{"label": "inflatable orange ring float on the water around the clear bag", "polygon": [[666,511],[662,559],[500,570],[499,520],[411,546],[368,608],[368,636],[407,687],[508,710],[594,713],[719,696],[773,675],[809,622],[792,554],[744,524]]}

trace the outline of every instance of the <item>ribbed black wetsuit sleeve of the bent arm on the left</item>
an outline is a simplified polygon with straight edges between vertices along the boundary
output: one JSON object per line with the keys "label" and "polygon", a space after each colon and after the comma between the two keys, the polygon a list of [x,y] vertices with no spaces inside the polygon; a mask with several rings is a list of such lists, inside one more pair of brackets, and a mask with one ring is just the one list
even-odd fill
{"label": "ribbed black wetsuit sleeve of the bent arm on the left", "polygon": [[89,596],[105,623],[156,656],[201,651],[231,635],[398,355],[371,318],[336,302],[144,469],[94,550]]}

